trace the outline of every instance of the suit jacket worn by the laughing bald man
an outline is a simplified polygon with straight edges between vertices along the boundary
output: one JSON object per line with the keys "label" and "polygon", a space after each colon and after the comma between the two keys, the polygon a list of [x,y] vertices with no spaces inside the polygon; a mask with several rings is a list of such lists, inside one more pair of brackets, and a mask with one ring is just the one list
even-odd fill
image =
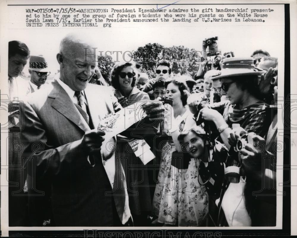
{"label": "suit jacket worn by the laughing bald man", "polygon": [[[89,84],[85,95],[95,128],[121,109],[106,86]],[[64,89],[54,81],[28,95],[20,114],[24,153],[32,158],[26,163],[31,168],[28,180],[50,181],[55,225],[113,226],[112,196],[105,194],[112,189],[101,156],[94,156],[91,167],[81,151],[80,139],[90,127]]]}

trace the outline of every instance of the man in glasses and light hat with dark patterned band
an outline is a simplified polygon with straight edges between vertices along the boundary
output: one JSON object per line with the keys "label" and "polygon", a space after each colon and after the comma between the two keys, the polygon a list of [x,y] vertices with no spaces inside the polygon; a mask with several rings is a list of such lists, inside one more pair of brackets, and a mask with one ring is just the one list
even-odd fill
{"label": "man in glasses and light hat with dark patterned band", "polygon": [[33,93],[44,86],[48,75],[50,75],[45,58],[42,56],[30,56],[29,73],[31,79],[29,81],[27,94]]}

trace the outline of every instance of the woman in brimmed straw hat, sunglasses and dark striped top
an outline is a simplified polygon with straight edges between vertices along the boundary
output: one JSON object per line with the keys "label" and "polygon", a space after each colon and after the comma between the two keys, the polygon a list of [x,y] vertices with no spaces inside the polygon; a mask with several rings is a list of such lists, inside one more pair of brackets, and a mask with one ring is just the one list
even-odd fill
{"label": "woman in brimmed straw hat, sunglasses and dark striped top", "polygon": [[[255,70],[252,58],[226,58],[222,70],[213,79],[222,83],[221,95],[226,101],[214,103],[200,111],[203,119],[213,121],[225,146],[229,149],[228,135],[232,124],[239,124],[247,132],[265,135],[265,108],[258,87],[258,76],[264,71]],[[268,123],[269,124],[269,123]]]}

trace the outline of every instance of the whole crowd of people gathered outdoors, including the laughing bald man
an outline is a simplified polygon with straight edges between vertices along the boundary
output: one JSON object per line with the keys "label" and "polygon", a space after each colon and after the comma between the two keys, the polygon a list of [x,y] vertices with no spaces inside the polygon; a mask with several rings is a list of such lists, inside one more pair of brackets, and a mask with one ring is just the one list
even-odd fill
{"label": "whole crowd of people gathered outdoors, including the laughing bald man", "polygon": [[[48,83],[46,59],[9,42],[10,226],[276,226],[276,57],[203,41],[194,79],[116,62],[106,81],[94,47],[65,36]],[[105,141],[100,121],[138,102],[146,116]]]}

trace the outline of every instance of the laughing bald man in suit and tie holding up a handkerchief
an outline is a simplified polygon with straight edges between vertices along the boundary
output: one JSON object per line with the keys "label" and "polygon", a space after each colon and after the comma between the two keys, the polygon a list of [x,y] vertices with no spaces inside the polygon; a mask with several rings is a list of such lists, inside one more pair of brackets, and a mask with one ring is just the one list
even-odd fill
{"label": "laughing bald man in suit and tie holding up a handkerchief", "polygon": [[[131,224],[125,174],[110,148],[115,138],[104,141],[105,133],[96,129],[121,105],[111,88],[89,84],[96,68],[93,50],[78,36],[64,37],[57,54],[60,75],[52,87],[30,94],[22,111],[21,140],[31,157],[29,194],[38,195],[45,182],[51,185],[55,226]],[[150,119],[164,116],[156,105],[147,112]],[[29,208],[36,197],[29,197]]]}

